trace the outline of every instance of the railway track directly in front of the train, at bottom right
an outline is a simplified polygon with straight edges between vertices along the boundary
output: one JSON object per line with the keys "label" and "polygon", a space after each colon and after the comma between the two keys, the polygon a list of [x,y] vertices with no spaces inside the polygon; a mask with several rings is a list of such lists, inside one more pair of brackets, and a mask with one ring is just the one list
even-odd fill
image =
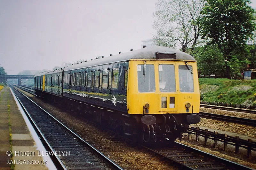
{"label": "railway track directly in front of the train, at bottom right", "polygon": [[[127,138],[125,139],[127,140]],[[112,139],[114,142],[118,140],[120,139],[116,137]],[[138,144],[142,151],[150,152],[159,158],[172,162],[179,169],[250,169],[180,143],[169,143],[167,141],[160,145],[161,147],[156,148]]]}

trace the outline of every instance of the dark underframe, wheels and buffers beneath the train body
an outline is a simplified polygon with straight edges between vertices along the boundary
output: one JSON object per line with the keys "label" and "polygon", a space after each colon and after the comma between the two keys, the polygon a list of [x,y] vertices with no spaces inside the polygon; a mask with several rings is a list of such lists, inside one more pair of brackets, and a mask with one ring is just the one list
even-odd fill
{"label": "dark underframe, wheels and buffers beneath the train body", "polygon": [[90,119],[104,128],[110,128],[119,135],[141,143],[154,143],[166,138],[174,141],[181,132],[187,131],[189,124],[200,121],[199,115],[190,113],[128,114],[41,91],[37,91],[37,95],[65,107],[77,116]]}

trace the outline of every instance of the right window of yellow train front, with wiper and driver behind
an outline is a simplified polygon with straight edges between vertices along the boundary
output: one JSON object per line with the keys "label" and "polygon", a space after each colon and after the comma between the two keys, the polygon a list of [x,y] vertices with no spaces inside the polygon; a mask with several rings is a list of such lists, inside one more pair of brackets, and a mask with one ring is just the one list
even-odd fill
{"label": "right window of yellow train front, with wiper and driver behind", "polygon": [[[192,70],[192,66],[189,66]],[[194,92],[193,74],[186,65],[179,65],[180,92]]]}

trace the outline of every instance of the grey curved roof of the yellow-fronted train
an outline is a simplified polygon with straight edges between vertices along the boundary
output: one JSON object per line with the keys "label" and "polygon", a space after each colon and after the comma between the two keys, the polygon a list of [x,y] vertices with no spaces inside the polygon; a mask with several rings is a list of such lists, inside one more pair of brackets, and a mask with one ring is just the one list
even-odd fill
{"label": "grey curved roof of the yellow-fronted train", "polygon": [[157,53],[167,53],[167,54],[175,53],[175,59],[172,59],[172,60],[196,61],[195,58],[193,58],[191,55],[189,55],[185,52],[175,50],[172,48],[168,48],[168,47],[153,46],[153,47],[146,47],[146,48],[139,49],[139,50],[132,50],[132,51],[129,51],[126,53],[121,53],[121,54],[117,54],[117,55],[113,55],[113,56],[108,56],[105,58],[99,58],[96,60],[75,64],[72,66],[68,66],[64,69],[60,69],[60,70],[39,73],[35,76],[52,74],[52,73],[60,73],[62,71],[75,70],[75,69],[80,69],[80,68],[93,67],[93,66],[111,64],[111,63],[116,63],[116,62],[128,61],[130,59],[156,59]]}

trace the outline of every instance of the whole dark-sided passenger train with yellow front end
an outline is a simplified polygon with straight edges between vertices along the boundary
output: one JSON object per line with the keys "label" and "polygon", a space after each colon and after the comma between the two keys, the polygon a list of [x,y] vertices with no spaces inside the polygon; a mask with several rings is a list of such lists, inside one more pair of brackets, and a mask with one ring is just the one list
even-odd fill
{"label": "whole dark-sided passenger train with yellow front end", "polygon": [[195,59],[147,47],[35,75],[36,94],[141,141],[176,139],[198,123]]}

